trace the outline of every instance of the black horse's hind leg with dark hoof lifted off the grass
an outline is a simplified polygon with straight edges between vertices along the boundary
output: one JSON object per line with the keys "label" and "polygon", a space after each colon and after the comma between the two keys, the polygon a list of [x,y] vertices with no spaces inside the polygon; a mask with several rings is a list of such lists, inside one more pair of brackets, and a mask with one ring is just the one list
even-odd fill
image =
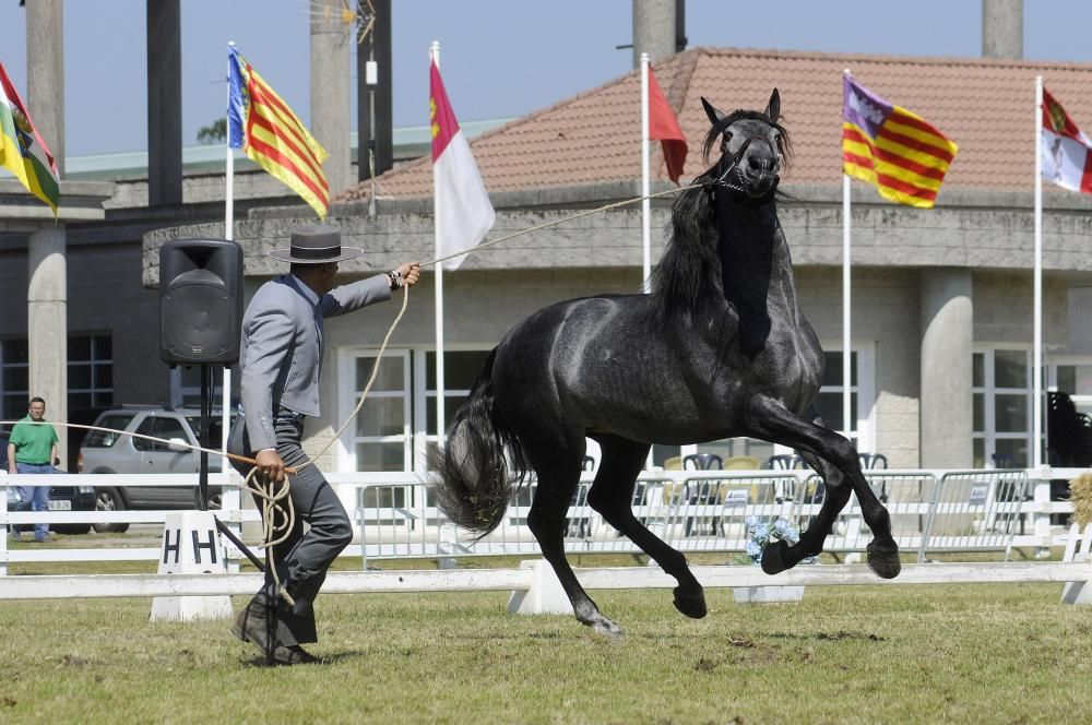
{"label": "black horse's hind leg with dark hoof lifted off the grass", "polygon": [[704,617],[705,594],[690,572],[686,557],[673,549],[633,515],[633,485],[649,455],[649,445],[617,436],[596,437],[603,453],[595,480],[587,491],[587,504],[629,537],[642,551],[675,578],[675,608],[687,617]]}

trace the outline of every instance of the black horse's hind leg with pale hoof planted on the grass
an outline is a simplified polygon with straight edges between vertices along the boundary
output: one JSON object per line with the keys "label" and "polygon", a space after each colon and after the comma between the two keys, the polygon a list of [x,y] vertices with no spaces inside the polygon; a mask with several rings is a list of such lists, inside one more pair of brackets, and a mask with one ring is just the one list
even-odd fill
{"label": "black horse's hind leg with pale hoof planted on the grass", "polygon": [[[545,450],[547,448],[548,451]],[[535,499],[527,514],[527,526],[538,540],[543,558],[554,568],[577,619],[596,632],[618,637],[621,628],[603,616],[595,602],[577,581],[572,567],[565,558],[565,515],[580,484],[583,448],[561,443],[556,447],[539,445],[537,450],[527,450],[527,454],[538,476]]]}

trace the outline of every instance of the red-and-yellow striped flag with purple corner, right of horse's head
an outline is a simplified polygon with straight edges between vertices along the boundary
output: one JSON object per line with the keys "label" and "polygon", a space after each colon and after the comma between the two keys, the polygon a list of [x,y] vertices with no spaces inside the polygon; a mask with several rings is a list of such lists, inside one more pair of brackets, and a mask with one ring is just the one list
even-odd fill
{"label": "red-and-yellow striped flag with purple corner, right of horse's head", "polygon": [[876,185],[885,199],[933,209],[959,147],[917,114],[844,78],[843,173]]}

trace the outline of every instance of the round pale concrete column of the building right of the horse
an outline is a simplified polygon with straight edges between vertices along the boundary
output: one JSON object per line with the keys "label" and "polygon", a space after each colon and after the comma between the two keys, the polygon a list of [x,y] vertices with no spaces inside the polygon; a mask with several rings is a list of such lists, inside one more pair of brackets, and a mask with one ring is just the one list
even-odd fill
{"label": "round pale concrete column of the building right of the horse", "polygon": [[973,464],[971,271],[922,271],[922,466]]}

